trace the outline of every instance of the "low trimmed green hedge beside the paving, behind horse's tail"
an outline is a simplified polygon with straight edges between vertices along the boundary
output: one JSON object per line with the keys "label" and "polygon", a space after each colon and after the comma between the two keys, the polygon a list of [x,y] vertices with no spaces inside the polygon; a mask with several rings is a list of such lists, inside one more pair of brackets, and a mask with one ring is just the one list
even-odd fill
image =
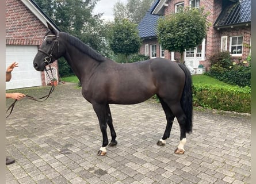
{"label": "low trimmed green hedge beside the paving, behind horse's tail", "polygon": [[193,105],[203,108],[251,113],[250,87],[193,85]]}

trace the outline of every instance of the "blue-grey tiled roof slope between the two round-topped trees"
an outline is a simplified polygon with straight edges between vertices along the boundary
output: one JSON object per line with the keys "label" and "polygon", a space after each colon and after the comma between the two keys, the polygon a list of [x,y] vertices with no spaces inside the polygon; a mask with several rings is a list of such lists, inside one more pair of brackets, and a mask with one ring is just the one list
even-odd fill
{"label": "blue-grey tiled roof slope between the two round-topped trees", "polygon": [[139,30],[139,36],[141,38],[156,37],[156,25],[158,19],[161,17],[151,14],[152,9],[154,9],[156,5],[156,2],[158,2],[158,0],[152,4],[146,15],[142,18],[142,21],[140,21],[139,25],[137,26]]}

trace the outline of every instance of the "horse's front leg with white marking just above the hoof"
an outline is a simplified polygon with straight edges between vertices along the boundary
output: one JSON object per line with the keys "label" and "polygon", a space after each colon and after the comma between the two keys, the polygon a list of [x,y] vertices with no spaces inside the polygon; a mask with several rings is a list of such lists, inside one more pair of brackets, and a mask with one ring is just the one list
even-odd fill
{"label": "horse's front leg with white marking just above the hoof", "polygon": [[102,133],[102,147],[98,151],[98,156],[104,156],[106,155],[106,146],[108,145],[108,134],[106,133],[106,128],[107,128],[107,118],[106,118],[106,105],[101,105],[101,104],[93,104],[93,109],[95,113],[97,114],[99,123],[100,123],[100,128],[101,128],[101,133]]}

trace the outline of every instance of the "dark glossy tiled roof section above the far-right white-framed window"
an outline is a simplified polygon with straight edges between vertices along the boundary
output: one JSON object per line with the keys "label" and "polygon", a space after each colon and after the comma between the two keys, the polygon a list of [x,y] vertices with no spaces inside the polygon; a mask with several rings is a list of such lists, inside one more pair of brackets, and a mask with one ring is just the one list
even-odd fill
{"label": "dark glossy tiled roof section above the far-right white-framed window", "polygon": [[216,28],[251,22],[251,0],[242,0],[224,7],[214,26]]}

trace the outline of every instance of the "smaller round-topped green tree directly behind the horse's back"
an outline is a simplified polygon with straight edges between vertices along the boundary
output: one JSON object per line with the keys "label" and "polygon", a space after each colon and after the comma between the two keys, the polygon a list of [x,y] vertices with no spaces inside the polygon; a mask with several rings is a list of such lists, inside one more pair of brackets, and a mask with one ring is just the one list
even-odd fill
{"label": "smaller round-topped green tree directly behind the horse's back", "polygon": [[128,56],[137,53],[142,44],[137,25],[128,19],[115,19],[109,27],[109,46],[115,54],[123,55],[127,63]]}

